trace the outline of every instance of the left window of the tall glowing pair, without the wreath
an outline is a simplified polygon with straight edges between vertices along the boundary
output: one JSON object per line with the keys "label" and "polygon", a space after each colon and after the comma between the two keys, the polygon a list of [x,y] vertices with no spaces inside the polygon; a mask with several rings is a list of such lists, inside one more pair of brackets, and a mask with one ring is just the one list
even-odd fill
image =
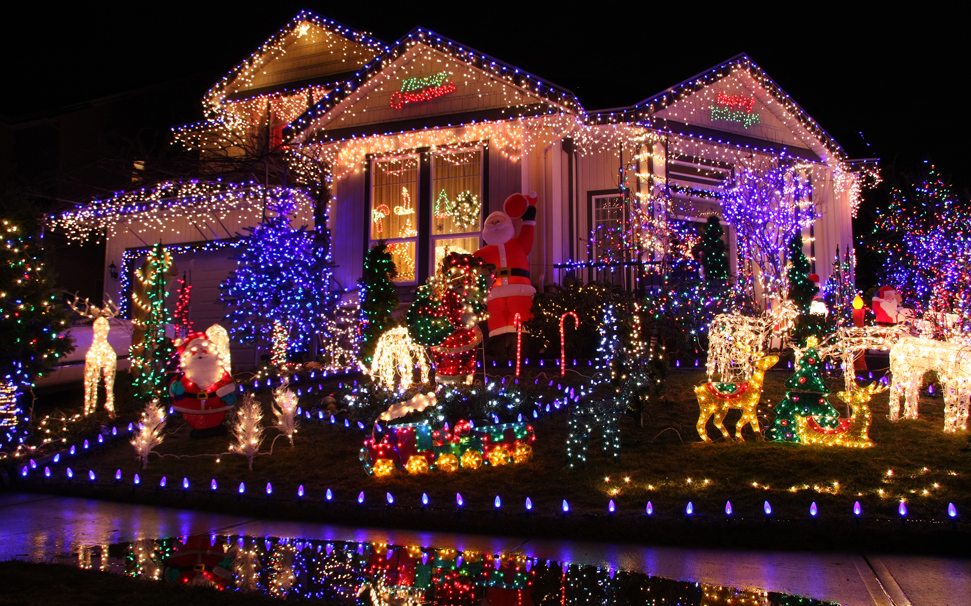
{"label": "left window of the tall glowing pair, without the wreath", "polygon": [[377,160],[371,175],[371,244],[387,240],[387,250],[398,268],[394,281],[414,282],[419,236],[419,159],[406,156]]}

